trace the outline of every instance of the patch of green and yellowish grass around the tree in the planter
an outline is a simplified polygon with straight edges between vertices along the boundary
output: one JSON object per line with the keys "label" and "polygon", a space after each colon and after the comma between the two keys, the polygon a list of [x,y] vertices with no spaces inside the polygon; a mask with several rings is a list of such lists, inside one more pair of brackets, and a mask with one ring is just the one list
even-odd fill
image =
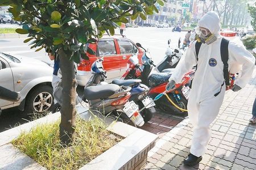
{"label": "patch of green and yellowish grass around the tree in the planter", "polygon": [[90,121],[77,118],[72,146],[64,148],[60,145],[59,124],[37,126],[12,143],[47,169],[79,169],[122,140],[106,130],[97,117]]}

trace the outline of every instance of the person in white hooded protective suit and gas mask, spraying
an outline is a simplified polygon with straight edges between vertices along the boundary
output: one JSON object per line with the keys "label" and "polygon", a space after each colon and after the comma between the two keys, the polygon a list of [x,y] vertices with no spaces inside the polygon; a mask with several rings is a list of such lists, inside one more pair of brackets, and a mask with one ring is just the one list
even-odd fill
{"label": "person in white hooded protective suit and gas mask, spraying", "polygon": [[[183,162],[185,165],[195,165],[202,160],[202,155],[205,153],[210,139],[209,125],[220,110],[226,90],[224,63],[220,53],[222,40],[220,18],[214,11],[207,12],[200,19],[198,27],[199,32],[197,34],[203,42],[199,50],[198,60],[195,41],[181,57],[166,86],[166,90],[174,88],[175,83],[180,83],[183,75],[191,70],[193,65],[197,65],[187,106],[189,120],[193,125],[193,136],[191,153]],[[236,79],[232,88],[233,91],[238,91],[249,82],[254,70],[255,58],[247,52],[245,46],[232,41],[229,42],[228,52],[229,71],[234,65],[242,66],[241,76]]]}

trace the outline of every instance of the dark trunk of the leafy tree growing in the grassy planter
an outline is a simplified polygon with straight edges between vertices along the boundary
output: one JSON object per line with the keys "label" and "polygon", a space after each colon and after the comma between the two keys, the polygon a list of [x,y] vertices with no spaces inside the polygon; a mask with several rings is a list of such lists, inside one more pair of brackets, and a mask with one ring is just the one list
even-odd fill
{"label": "dark trunk of the leafy tree growing in the grassy planter", "polygon": [[76,78],[74,62],[69,60],[63,49],[59,49],[60,69],[63,81],[63,104],[60,109],[60,140],[69,146],[73,139],[76,125]]}

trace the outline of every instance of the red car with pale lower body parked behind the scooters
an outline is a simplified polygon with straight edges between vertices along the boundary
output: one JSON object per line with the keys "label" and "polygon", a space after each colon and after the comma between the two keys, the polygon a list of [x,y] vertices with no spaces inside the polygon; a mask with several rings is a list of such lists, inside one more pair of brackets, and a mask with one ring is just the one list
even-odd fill
{"label": "red car with pale lower body parked behind the scooters", "polygon": [[127,60],[131,54],[139,51],[138,58],[141,63],[143,51],[131,40],[126,37],[102,37],[96,42],[96,44],[89,44],[89,48],[96,52],[95,55],[86,53],[89,60],[81,59],[79,65],[77,65],[78,73],[76,76],[77,82],[80,86],[85,86],[90,76],[90,67],[97,58],[104,58],[103,66],[107,71],[107,81],[110,82],[113,79],[120,78],[126,71]]}

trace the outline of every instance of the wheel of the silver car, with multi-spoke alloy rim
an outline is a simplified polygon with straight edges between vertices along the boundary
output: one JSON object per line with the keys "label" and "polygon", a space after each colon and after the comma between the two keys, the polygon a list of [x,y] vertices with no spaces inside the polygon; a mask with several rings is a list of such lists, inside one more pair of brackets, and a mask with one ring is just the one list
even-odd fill
{"label": "wheel of the silver car, with multi-spoke alloy rim", "polygon": [[26,97],[24,113],[44,113],[51,111],[54,105],[52,93],[51,86],[42,85],[36,87]]}

